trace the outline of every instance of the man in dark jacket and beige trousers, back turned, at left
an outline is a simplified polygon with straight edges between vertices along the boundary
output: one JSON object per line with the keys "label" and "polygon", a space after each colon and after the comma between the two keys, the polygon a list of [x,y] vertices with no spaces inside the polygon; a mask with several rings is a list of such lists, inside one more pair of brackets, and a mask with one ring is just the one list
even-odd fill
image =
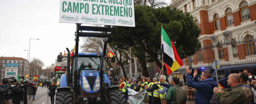
{"label": "man in dark jacket and beige trousers, back turned, at left", "polygon": [[27,85],[27,103],[32,104],[33,103],[33,96],[36,94],[36,88],[33,85],[33,82],[31,81]]}

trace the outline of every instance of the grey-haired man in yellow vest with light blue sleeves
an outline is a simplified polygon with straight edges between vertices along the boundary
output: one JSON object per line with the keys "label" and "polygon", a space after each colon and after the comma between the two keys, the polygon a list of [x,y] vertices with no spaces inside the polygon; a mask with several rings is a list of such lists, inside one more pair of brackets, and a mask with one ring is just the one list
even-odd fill
{"label": "grey-haired man in yellow vest with light blue sleeves", "polygon": [[[166,80],[166,76],[165,75],[160,75],[159,83],[162,83],[163,81],[164,81],[164,83],[167,83],[165,80]],[[158,92],[160,93],[161,104],[167,104],[167,101],[165,99],[165,92],[167,91],[167,89],[168,88],[164,87],[164,86],[160,86],[160,89],[158,89]]]}

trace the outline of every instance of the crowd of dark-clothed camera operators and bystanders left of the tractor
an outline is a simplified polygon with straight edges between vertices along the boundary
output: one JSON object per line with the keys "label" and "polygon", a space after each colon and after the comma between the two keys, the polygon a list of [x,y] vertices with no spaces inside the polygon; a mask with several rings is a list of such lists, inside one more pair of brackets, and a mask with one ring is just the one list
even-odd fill
{"label": "crowd of dark-clothed camera operators and bystanders left of the tractor", "polygon": [[[54,104],[56,83],[53,82],[48,89],[51,94],[51,104]],[[33,100],[36,100],[36,91],[37,85],[33,81],[13,82],[9,80],[7,84],[0,82],[0,104],[20,104],[21,101],[24,104],[32,104]]]}

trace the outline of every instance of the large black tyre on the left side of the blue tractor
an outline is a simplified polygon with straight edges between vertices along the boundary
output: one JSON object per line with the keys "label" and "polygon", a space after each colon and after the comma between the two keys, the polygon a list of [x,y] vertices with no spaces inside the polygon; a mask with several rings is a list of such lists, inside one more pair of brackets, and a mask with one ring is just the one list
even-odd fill
{"label": "large black tyre on the left side of the blue tractor", "polygon": [[69,90],[56,93],[56,104],[72,104],[72,92]]}

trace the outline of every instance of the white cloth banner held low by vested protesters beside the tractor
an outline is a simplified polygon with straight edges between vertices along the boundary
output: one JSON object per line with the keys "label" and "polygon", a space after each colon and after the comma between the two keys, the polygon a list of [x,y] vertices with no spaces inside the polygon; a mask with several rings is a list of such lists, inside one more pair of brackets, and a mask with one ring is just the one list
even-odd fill
{"label": "white cloth banner held low by vested protesters beside the tractor", "polygon": [[146,89],[141,90],[140,92],[136,92],[135,90],[132,90],[128,88],[128,103],[129,104],[143,104],[143,99],[145,94],[147,93]]}

